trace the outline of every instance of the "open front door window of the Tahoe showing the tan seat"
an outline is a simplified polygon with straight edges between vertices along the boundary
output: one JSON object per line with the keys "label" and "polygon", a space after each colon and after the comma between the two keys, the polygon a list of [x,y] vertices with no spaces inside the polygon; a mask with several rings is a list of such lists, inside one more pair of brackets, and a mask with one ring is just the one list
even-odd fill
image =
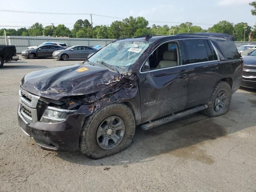
{"label": "open front door window of the Tahoe showing the tan seat", "polygon": [[178,66],[179,58],[178,42],[164,43],[149,56],[143,64],[142,71]]}

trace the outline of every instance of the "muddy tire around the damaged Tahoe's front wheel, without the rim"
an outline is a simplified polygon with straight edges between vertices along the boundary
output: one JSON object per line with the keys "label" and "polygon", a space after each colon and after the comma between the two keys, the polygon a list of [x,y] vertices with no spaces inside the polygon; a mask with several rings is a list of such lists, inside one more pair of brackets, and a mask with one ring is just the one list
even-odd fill
{"label": "muddy tire around the damaged Tahoe's front wheel, without the rim", "polygon": [[[110,116],[118,116],[123,120],[125,133],[118,146],[110,150],[104,150],[97,143],[96,132],[100,123]],[[134,133],[135,118],[132,110],[125,104],[110,104],[86,118],[80,133],[80,151],[92,159],[116,154],[130,146]]]}

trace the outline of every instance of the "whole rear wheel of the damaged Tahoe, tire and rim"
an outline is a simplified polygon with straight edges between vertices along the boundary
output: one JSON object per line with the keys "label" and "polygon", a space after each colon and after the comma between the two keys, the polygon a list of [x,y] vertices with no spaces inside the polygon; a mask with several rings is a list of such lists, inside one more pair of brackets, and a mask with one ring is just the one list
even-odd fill
{"label": "whole rear wheel of the damaged Tahoe, tire and rim", "polygon": [[202,111],[202,114],[216,117],[228,112],[231,102],[231,88],[227,82],[219,81],[212,92],[210,101],[207,103],[208,108]]}

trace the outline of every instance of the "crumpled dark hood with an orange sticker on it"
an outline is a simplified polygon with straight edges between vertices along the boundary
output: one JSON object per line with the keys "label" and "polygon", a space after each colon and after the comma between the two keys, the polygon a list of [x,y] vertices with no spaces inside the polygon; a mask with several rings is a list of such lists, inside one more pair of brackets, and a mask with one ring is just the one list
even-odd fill
{"label": "crumpled dark hood with an orange sticker on it", "polygon": [[26,74],[21,87],[32,94],[59,100],[64,96],[96,93],[120,81],[121,74],[104,67],[72,64]]}

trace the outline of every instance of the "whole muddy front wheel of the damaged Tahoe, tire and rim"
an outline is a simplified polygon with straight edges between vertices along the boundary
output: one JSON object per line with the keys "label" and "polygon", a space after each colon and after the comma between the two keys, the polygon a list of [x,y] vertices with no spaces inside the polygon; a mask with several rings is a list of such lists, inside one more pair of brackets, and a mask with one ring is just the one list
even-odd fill
{"label": "whole muddy front wheel of the damaged Tahoe, tire and rim", "polygon": [[[132,110],[125,104],[110,104],[97,110],[84,122],[80,134],[80,151],[93,159],[116,154],[130,146],[134,132]],[[107,144],[105,140],[108,140]]]}

